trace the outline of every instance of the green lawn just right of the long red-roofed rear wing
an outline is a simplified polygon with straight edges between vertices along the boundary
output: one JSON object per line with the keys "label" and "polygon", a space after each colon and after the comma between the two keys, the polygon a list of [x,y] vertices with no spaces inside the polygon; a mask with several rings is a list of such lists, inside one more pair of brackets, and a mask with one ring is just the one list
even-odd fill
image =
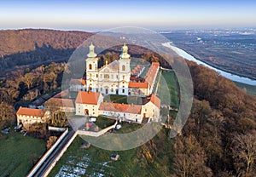
{"label": "green lawn just right of the long red-roofed rear wing", "polygon": [[[174,71],[162,71],[159,88],[157,90],[161,104],[170,104],[172,107],[177,108],[179,106],[178,92],[179,86]],[[169,99],[171,99],[171,102]]]}

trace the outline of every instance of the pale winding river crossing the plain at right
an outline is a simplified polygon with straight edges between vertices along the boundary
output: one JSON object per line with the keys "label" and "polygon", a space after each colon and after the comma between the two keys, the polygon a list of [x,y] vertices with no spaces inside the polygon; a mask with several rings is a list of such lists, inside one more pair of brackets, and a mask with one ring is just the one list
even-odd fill
{"label": "pale winding river crossing the plain at right", "polygon": [[172,49],[174,52],[176,52],[179,56],[183,57],[184,59],[187,59],[187,60],[191,60],[191,61],[195,61],[198,65],[203,65],[203,66],[207,66],[208,68],[211,68],[212,70],[214,71],[217,71],[221,76],[224,76],[226,78],[229,78],[230,80],[232,81],[236,81],[236,82],[239,82],[239,83],[246,83],[248,85],[253,85],[253,86],[256,86],[256,80],[253,80],[253,79],[250,79],[250,78],[247,78],[247,77],[240,77],[240,76],[237,76],[235,74],[231,74],[229,72],[226,72],[226,71],[222,71],[222,70],[219,70],[218,68],[215,68],[215,67],[212,67],[212,66],[209,66],[207,63],[201,61],[201,60],[197,60],[195,59],[194,56],[192,56],[191,54],[188,54],[186,51],[184,51],[183,49],[179,49],[175,46],[172,45],[172,42],[169,42],[169,43],[162,43],[163,46],[167,47],[167,48],[170,48]]}

